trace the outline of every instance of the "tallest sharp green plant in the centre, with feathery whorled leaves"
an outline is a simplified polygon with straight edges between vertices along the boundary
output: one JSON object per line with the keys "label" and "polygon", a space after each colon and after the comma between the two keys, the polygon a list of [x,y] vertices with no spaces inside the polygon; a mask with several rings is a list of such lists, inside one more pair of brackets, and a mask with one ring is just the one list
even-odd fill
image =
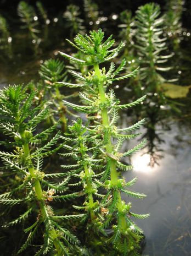
{"label": "tallest sharp green plant in the centre, with feathery whorled leaves", "polygon": [[77,59],[63,52],[60,52],[60,54],[72,62],[93,67],[93,71],[89,69],[87,75],[73,73],[81,81],[81,84],[76,86],[82,88],[80,98],[83,106],[64,102],[74,110],[86,113],[87,117],[91,119],[91,125],[89,125],[91,133],[99,135],[96,150],[102,154],[102,159],[105,159],[104,173],[100,179],[100,186],[106,189],[102,205],[108,211],[105,227],[113,224],[114,233],[108,242],[112,242],[119,253],[116,254],[115,252],[114,255],[136,255],[142,231],[134,224],[131,217],[144,219],[148,217],[148,214],[132,213],[131,203],[126,204],[121,199],[121,193],[126,193],[134,198],[145,197],[144,194],[132,192],[128,189],[136,182],[136,178],[128,182],[124,178],[120,178],[121,171],[128,171],[132,168],[130,165],[123,164],[121,159],[141,149],[145,141],[142,141],[127,152],[120,152],[120,150],[125,140],[138,135],[131,134],[131,132],[138,129],[144,120],[130,127],[119,129],[117,128],[117,119],[119,118],[119,110],[140,104],[145,99],[145,96],[129,104],[120,104],[120,101],[116,99],[114,90],[109,89],[109,87],[115,81],[118,82],[133,77],[136,75],[137,69],[130,74],[117,77],[121,70],[125,68],[125,59],[121,61],[120,66],[117,68],[115,68],[114,62],[111,62],[108,72],[106,72],[105,67],[100,69],[99,64],[115,58],[124,46],[121,42],[119,46],[111,48],[114,46],[115,40],[110,36],[104,41],[104,32],[101,29],[97,32],[90,31],[89,35],[85,36],[78,34],[74,39],[74,43],[70,43],[83,53],[83,58]]}

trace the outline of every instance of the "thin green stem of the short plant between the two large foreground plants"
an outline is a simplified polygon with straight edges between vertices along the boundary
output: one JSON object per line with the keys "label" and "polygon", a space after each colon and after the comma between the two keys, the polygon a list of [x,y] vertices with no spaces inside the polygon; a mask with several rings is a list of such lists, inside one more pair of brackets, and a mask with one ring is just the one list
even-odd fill
{"label": "thin green stem of the short plant between the two large foreground plants", "polygon": [[[84,157],[84,152],[83,152],[83,145],[82,143],[80,143],[80,148],[81,148],[81,155],[82,158]],[[87,177],[86,179],[86,184],[87,184],[87,191],[88,191],[88,198],[89,198],[89,211],[90,211],[90,217],[91,217],[91,221],[93,222],[95,220],[95,214],[93,211],[93,206],[94,206],[94,201],[93,201],[93,195],[92,195],[92,184],[91,181],[89,180],[89,169],[87,164],[83,165],[84,170],[85,170],[85,175]]]}

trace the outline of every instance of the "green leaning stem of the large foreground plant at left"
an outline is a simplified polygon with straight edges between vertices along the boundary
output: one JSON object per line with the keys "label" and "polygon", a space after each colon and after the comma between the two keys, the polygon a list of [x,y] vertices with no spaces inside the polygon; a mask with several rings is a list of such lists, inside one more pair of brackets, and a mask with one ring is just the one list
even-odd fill
{"label": "green leaning stem of the large foreground plant at left", "polygon": [[[23,138],[25,140],[25,132],[21,133],[21,138]],[[30,149],[29,149],[29,143],[24,143],[23,144],[23,151],[24,151],[24,156],[26,159],[29,159],[30,157]],[[31,175],[32,178],[36,178],[35,175],[35,167],[32,164],[32,161],[29,160],[28,162],[28,170],[29,173]],[[42,214],[42,219],[43,221],[45,221],[47,219],[47,210],[46,210],[46,205],[44,203],[43,200],[43,191],[42,191],[42,187],[41,187],[41,183],[38,179],[35,179],[35,193],[36,193],[36,198],[39,201],[39,205],[40,205],[40,210],[41,210],[41,214]],[[57,239],[57,232],[55,231],[54,227],[52,228],[52,230],[49,230],[49,235],[53,238],[54,241],[54,247],[57,250],[57,255],[58,256],[63,256],[63,252],[59,246],[59,242]]]}

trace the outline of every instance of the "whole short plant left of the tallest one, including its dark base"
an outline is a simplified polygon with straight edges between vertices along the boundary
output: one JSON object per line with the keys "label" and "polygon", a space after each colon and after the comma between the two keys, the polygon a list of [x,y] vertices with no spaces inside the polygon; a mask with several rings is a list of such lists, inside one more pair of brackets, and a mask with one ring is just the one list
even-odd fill
{"label": "whole short plant left of the tallest one, including its dark base", "polygon": [[[99,252],[99,243],[102,243],[106,237],[102,221],[102,211],[100,199],[104,197],[100,194],[100,177],[102,177],[103,165],[102,159],[99,159],[97,150],[97,137],[91,129],[82,124],[82,119],[77,119],[72,126],[69,126],[69,133],[65,134],[64,148],[68,151],[64,156],[72,157],[72,165],[63,165],[68,171],[71,180],[75,178],[78,182],[70,183],[72,187],[82,188],[84,201],[81,204],[74,205],[74,208],[84,213],[82,222],[86,222],[86,228],[83,226],[86,246]],[[72,178],[73,177],[73,178]],[[99,253],[98,253],[99,255]]]}

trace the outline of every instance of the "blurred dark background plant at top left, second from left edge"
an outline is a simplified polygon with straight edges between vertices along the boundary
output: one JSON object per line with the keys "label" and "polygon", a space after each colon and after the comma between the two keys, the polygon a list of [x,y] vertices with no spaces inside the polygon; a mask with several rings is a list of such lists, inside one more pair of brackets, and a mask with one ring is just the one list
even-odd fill
{"label": "blurred dark background plant at top left, second from left edge", "polygon": [[24,23],[21,28],[28,29],[31,37],[36,39],[36,34],[39,30],[37,29],[38,20],[35,20],[35,17],[37,17],[35,9],[25,1],[21,1],[18,4],[18,15],[22,23]]}

